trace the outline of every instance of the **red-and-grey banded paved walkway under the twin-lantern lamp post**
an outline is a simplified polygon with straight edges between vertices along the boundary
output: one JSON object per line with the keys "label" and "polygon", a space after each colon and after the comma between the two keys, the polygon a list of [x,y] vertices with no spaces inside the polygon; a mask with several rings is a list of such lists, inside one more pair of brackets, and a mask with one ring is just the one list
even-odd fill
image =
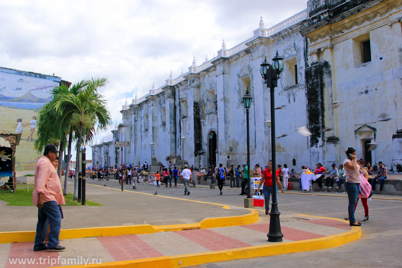
{"label": "red-and-grey banded paved walkway under the twin-lantern lamp post", "polygon": [[[262,215],[261,215],[262,216]],[[328,244],[339,235],[350,235],[352,227],[346,221],[329,218],[310,217],[305,215],[291,215],[281,218],[281,231],[284,239],[280,243],[267,242],[266,233],[269,230],[269,217],[260,217],[255,224],[194,229],[173,232],[157,232],[148,234],[130,234],[107,237],[88,237],[78,239],[63,239],[61,245],[66,246],[64,251],[33,251],[33,242],[0,244],[0,265],[5,267],[50,267],[98,263],[109,266],[112,263],[131,261],[148,267],[159,265],[161,260],[175,261],[171,267],[193,265],[209,262],[196,262],[194,256],[206,256],[220,252],[226,254],[237,250],[256,251],[264,246],[294,247],[291,242],[306,242],[306,240],[320,238]],[[356,227],[353,227],[356,228]],[[290,243],[285,243],[290,242]],[[314,244],[315,241],[310,241]],[[305,251],[311,245],[306,242]],[[328,246],[329,247],[329,246]],[[180,256],[177,256],[180,255]],[[258,255],[257,255],[258,256]],[[164,257],[164,258],[160,258]],[[233,255],[231,259],[235,259]],[[137,260],[138,262],[132,262]],[[12,264],[12,261],[33,261],[33,264]],[[53,264],[53,265],[52,265]],[[114,263],[119,264],[119,263]],[[123,264],[121,262],[120,264]],[[135,265],[134,265],[135,266]]]}

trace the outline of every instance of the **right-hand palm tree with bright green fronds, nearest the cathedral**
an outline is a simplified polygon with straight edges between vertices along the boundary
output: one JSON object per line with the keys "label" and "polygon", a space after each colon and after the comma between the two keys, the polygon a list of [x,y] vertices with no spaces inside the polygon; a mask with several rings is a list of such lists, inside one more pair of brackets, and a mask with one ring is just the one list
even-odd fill
{"label": "right-hand palm tree with bright green fronds, nearest the cathedral", "polygon": [[[77,136],[77,154],[74,177],[74,200],[78,198],[78,159],[82,143],[84,129],[94,129],[97,123],[97,130],[106,130],[112,120],[109,111],[106,109],[106,101],[103,96],[97,93],[99,87],[106,86],[109,82],[105,77],[91,78],[88,83],[77,92],[76,95],[63,93],[55,100],[55,110],[60,113],[61,120],[69,119],[70,126],[75,129]],[[60,131],[62,125],[59,126]],[[82,170],[85,172],[85,170]],[[85,174],[83,174],[85,175]]]}

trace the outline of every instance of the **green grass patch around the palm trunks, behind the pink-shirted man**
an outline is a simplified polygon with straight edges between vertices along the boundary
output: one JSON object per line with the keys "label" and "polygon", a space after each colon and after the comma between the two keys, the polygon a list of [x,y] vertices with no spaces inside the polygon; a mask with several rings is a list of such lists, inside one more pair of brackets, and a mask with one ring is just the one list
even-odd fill
{"label": "green grass patch around the palm trunks, behind the pink-shirted man", "polygon": [[[2,191],[0,192],[0,200],[8,202],[8,206],[35,206],[32,204],[32,192],[33,189],[18,189],[16,193]],[[68,193],[68,196],[65,196],[64,199],[66,204],[63,206],[81,206],[81,203],[72,200],[73,195],[71,193]],[[86,206],[103,206],[87,199],[85,204]]]}

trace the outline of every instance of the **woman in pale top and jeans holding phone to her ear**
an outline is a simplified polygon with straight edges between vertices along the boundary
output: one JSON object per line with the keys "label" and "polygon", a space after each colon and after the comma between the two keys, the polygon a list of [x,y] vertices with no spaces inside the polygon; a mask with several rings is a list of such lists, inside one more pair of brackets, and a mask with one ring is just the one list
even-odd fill
{"label": "woman in pale top and jeans holding phone to her ear", "polygon": [[349,225],[350,226],[361,226],[360,222],[355,219],[355,205],[357,202],[357,197],[360,190],[360,165],[356,162],[356,150],[349,147],[346,150],[347,158],[343,161],[343,166],[346,173],[345,189],[348,193],[349,199]]}

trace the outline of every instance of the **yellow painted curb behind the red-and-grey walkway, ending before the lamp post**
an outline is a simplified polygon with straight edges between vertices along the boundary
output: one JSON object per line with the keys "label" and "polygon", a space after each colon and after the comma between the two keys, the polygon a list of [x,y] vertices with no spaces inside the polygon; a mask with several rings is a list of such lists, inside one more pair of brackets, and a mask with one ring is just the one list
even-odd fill
{"label": "yellow painted curb behind the red-and-grey walkway, ending before the lamp post", "polygon": [[[250,210],[250,213],[241,216],[229,216],[204,219],[198,223],[174,224],[152,226],[149,224],[130,226],[108,226],[93,228],[77,228],[60,230],[60,239],[73,239],[98,236],[116,236],[127,234],[147,234],[156,232],[181,231],[190,229],[206,229],[215,227],[238,226],[252,224],[258,221],[258,212]],[[36,231],[0,232],[0,244],[14,242],[31,242],[35,240]]]}

